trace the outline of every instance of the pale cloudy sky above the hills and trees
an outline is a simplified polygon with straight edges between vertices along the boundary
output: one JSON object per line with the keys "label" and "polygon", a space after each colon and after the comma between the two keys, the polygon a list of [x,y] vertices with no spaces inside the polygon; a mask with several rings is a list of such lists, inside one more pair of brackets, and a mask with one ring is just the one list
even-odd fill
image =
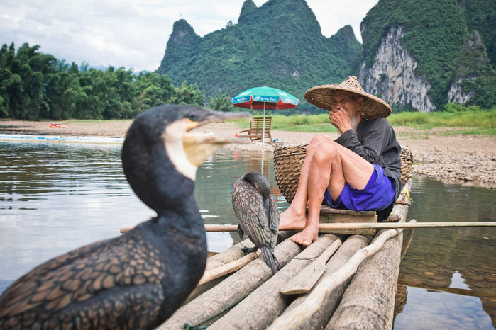
{"label": "pale cloudy sky above the hills and trees", "polygon": [[[307,0],[322,34],[360,22],[378,0]],[[92,66],[158,69],[172,25],[184,18],[204,36],[238,23],[244,0],[1,0],[0,45],[24,42],[57,59]],[[254,0],[262,6],[267,0]]]}

